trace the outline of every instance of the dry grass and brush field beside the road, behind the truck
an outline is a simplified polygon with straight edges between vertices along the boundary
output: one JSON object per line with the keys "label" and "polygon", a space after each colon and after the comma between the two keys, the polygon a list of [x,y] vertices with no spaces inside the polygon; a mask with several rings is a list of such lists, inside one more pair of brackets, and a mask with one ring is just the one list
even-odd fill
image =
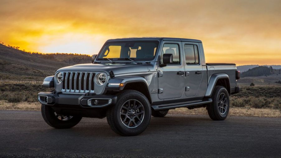
{"label": "dry grass and brush field beside the road, behind the truck", "polygon": [[[230,116],[281,117],[281,87],[242,86],[240,93],[231,95]],[[37,93],[50,91],[37,82],[0,82],[0,110],[40,110]],[[171,114],[205,114],[205,108],[178,108]]]}

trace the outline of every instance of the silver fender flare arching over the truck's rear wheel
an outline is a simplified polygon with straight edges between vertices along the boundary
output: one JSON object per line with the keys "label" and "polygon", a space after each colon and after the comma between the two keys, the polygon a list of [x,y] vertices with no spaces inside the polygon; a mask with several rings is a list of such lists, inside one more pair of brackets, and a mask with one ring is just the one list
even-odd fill
{"label": "silver fender flare arching over the truck's rear wheel", "polygon": [[217,81],[219,79],[227,79],[228,80],[228,84],[230,85],[230,81],[229,81],[229,77],[227,74],[213,74],[210,79],[209,79],[209,83],[208,83],[208,87],[207,87],[207,91],[205,94],[205,97],[211,97],[212,93],[215,89],[215,85],[217,84]]}

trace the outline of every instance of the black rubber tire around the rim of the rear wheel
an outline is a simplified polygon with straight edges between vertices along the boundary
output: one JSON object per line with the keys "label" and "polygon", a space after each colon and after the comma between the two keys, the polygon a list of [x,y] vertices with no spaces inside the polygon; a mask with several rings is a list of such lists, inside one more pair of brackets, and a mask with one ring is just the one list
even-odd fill
{"label": "black rubber tire around the rim of the rear wheel", "polygon": [[[227,107],[224,114],[221,114],[218,109],[218,100],[221,94],[225,94],[227,99]],[[225,87],[223,86],[216,86],[213,94],[212,94],[212,103],[207,105],[207,111],[209,117],[212,120],[224,120],[226,119],[228,112],[229,112],[229,94]]]}

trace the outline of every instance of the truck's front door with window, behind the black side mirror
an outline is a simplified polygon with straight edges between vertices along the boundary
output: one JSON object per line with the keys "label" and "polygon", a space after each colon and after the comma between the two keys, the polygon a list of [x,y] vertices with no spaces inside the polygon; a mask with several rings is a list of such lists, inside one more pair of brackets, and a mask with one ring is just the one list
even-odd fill
{"label": "truck's front door with window, behind the black side mirror", "polygon": [[184,91],[184,64],[181,42],[166,41],[162,47],[160,62],[163,54],[173,54],[173,63],[158,67],[158,98],[180,98]]}

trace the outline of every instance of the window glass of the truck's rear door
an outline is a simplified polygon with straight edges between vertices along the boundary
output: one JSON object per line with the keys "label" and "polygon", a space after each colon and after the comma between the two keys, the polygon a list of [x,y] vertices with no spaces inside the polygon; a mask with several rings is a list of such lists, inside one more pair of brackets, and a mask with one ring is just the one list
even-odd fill
{"label": "window glass of the truck's rear door", "polygon": [[197,45],[184,45],[186,64],[199,64],[199,55]]}

